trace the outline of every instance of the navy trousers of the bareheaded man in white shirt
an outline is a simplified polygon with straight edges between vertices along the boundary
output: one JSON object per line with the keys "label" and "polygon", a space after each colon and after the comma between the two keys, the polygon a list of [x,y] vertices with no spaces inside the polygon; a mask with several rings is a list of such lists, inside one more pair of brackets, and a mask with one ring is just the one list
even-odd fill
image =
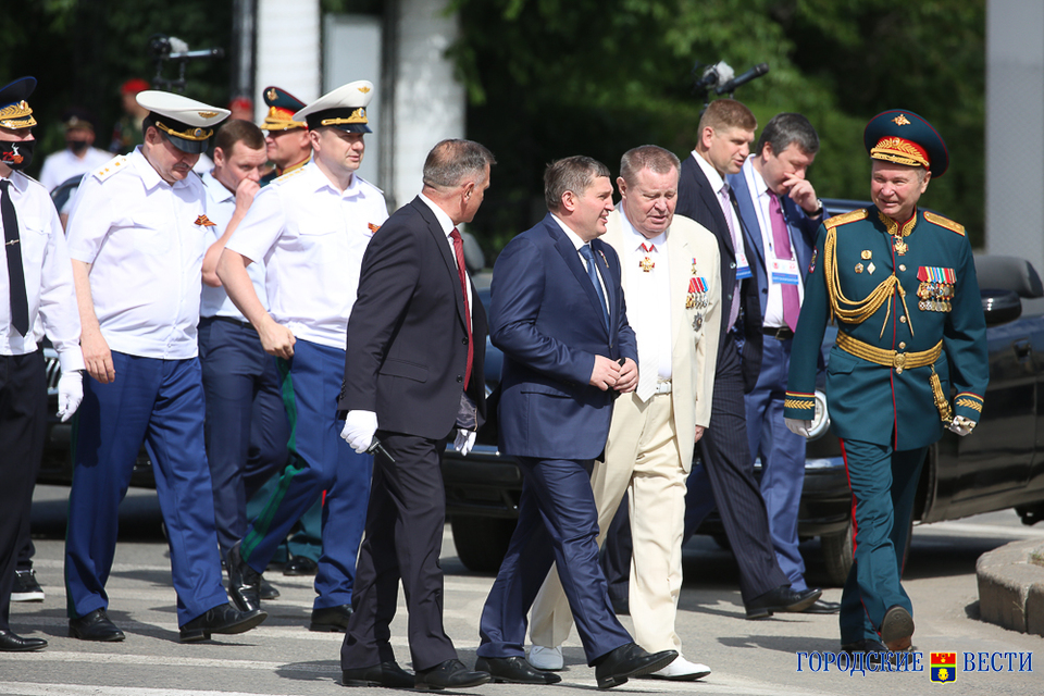
{"label": "navy trousers of the bareheaded man in white shirt", "polygon": [[207,460],[224,558],[247,533],[245,476],[282,471],[289,425],[275,358],[264,352],[252,326],[201,319],[199,362],[207,395]]}

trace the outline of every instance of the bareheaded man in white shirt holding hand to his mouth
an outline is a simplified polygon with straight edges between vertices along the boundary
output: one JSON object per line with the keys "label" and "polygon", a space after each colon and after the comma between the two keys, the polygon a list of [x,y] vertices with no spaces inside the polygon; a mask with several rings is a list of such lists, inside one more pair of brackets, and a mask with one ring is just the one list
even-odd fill
{"label": "bareheaded man in white shirt holding hand to his mouth", "polygon": [[[207,227],[199,361],[217,543],[225,561],[246,534],[250,493],[282,470],[289,438],[275,358],[264,352],[258,332],[228,299],[216,274],[225,243],[261,188],[265,160],[261,128],[249,121],[226,121],[214,136],[214,170],[202,177],[207,216],[214,225]],[[247,273],[264,303],[264,264],[252,263]]]}

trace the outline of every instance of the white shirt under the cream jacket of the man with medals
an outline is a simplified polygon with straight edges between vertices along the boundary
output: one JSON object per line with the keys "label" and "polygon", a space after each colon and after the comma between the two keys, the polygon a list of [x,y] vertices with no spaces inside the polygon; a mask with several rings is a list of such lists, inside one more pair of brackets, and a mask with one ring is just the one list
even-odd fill
{"label": "white shirt under the cream jacket of the man with medals", "polygon": [[[627,276],[627,296],[637,298],[630,308],[627,322],[634,328],[638,341],[639,366],[645,366],[647,356],[655,353],[657,376],[661,381],[671,378],[671,349],[674,345],[671,336],[671,269],[670,254],[667,252],[668,234],[662,232],[647,239],[631,225],[622,207],[620,223],[623,227],[623,244],[626,258],[623,260]],[[652,246],[646,253],[642,245]],[[654,266],[645,272],[639,265],[648,257]],[[652,363],[650,363],[652,364]]]}

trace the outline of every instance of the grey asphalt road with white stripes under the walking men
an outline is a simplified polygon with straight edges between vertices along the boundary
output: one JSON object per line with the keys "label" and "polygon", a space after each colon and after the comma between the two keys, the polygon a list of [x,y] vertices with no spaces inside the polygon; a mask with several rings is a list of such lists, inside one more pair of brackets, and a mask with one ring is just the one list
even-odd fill
{"label": "grey asphalt road with white stripes under the walking men", "polygon": [[[126,633],[117,644],[92,644],[66,637],[62,582],[62,537],[66,488],[38,488],[34,505],[36,568],[47,593],[42,604],[12,605],[11,622],[24,635],[46,637],[47,649],[0,657],[0,694],[112,694],[145,696],[228,696],[254,694],[345,693],[340,686],[340,634],[307,630],[314,593],[311,579],[268,576],[283,596],[265,602],[268,621],[239,636],[181,645],[171,588],[170,558],[163,540],[154,494],[134,490],[124,501],[122,540],[109,581],[110,617]],[[915,530],[906,587],[917,621],[915,648],[922,654],[921,671],[840,673],[823,671],[798,654],[837,649],[836,617],[778,614],[746,621],[736,589],[736,566],[729,551],[697,537],[685,548],[685,585],[679,611],[679,634],[686,657],[709,664],[713,673],[697,683],[632,680],[613,693],[792,695],[921,695],[1044,694],[1044,638],[1014,633],[978,619],[975,559],[1010,540],[1044,529],[1022,526],[1014,512],[980,515]],[[807,545],[813,558],[816,543]],[[492,577],[467,571],[455,556],[447,527],[443,547],[446,572],[447,632],[465,663],[473,663],[477,623]],[[809,580],[822,572],[810,562]],[[826,591],[840,599],[841,591]],[[402,607],[400,598],[400,608]],[[409,668],[406,612],[393,624],[393,644],[401,664]],[[630,625],[630,618],[623,618]],[[933,684],[931,651],[957,652],[954,683]],[[1017,654],[1014,671],[1007,658],[993,663],[1002,672],[967,671],[964,652]],[[1018,671],[1029,655],[1032,671]],[[475,696],[514,696],[569,693],[595,688],[594,671],[584,664],[575,636],[566,644],[567,670],[556,686],[488,684],[467,689]],[[978,657],[974,663],[979,664]],[[987,659],[987,666],[989,666]],[[812,670],[811,667],[819,667]],[[800,667],[800,670],[799,670]],[[385,689],[353,689],[353,694],[387,694]]]}

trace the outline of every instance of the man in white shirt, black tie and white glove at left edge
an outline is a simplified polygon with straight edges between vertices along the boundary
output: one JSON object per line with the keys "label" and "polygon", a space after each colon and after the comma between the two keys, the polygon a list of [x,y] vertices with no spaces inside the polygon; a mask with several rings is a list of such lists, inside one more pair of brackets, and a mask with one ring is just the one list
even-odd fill
{"label": "man in white shirt, black tie and white glove at left edge", "polygon": [[[26,99],[35,77],[0,88],[0,652],[38,650],[8,623],[15,563],[27,539],[33,486],[47,430],[46,330],[58,351],[58,414],[67,421],[83,398],[79,313],[65,235],[47,190],[20,170],[32,162],[36,119]],[[32,571],[30,571],[32,572]],[[35,581],[34,581],[35,583]],[[42,593],[41,593],[42,594]]]}

